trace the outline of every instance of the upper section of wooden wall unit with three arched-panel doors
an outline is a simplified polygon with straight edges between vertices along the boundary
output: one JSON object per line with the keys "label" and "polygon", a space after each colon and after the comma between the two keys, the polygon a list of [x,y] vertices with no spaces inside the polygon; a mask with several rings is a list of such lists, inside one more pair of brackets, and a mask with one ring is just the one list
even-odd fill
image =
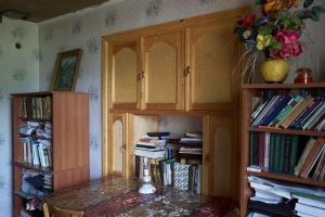
{"label": "upper section of wooden wall unit with three arched-panel doors", "polygon": [[103,104],[110,110],[237,111],[240,48],[234,28],[245,12],[105,36]]}

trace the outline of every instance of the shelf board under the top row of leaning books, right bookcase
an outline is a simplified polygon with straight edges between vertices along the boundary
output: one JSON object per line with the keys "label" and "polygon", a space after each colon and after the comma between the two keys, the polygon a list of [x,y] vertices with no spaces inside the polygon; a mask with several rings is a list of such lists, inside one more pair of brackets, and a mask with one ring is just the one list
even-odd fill
{"label": "shelf board under the top row of leaning books, right bookcase", "polygon": [[281,128],[256,128],[249,127],[249,131],[253,132],[272,132],[272,133],[281,133],[281,135],[297,135],[297,136],[313,136],[313,137],[325,137],[325,131],[317,130],[299,130],[299,129],[281,129]]}

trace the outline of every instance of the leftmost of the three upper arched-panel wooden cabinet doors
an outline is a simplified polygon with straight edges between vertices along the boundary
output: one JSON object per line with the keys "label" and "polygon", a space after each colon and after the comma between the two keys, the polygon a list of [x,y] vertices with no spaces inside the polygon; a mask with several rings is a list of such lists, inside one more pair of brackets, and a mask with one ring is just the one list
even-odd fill
{"label": "leftmost of the three upper arched-panel wooden cabinet doors", "polygon": [[108,41],[110,108],[140,108],[139,40]]}

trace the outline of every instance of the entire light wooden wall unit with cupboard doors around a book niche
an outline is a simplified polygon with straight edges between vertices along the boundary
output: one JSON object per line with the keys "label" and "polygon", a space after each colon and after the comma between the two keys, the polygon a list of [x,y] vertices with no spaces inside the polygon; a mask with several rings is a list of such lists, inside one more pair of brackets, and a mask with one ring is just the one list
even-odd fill
{"label": "entire light wooden wall unit with cupboard doors around a book niche", "polygon": [[[134,144],[145,132],[159,129],[159,116],[198,115],[203,117],[203,193],[239,201],[239,76],[233,71],[240,47],[233,30],[248,11],[229,10],[103,37],[103,176],[115,174],[112,153],[117,136],[126,142],[119,153],[119,161],[123,158],[119,174],[132,177]],[[116,52],[116,44],[130,44],[130,40],[136,49],[128,48],[129,54],[118,58],[132,67],[115,71],[113,53]],[[115,75],[118,72],[127,77],[114,80],[122,76]],[[129,88],[121,85],[125,79],[132,84],[132,94],[118,88]],[[126,94],[125,102],[117,100],[122,99],[118,92]],[[116,122],[123,132],[112,130]]]}

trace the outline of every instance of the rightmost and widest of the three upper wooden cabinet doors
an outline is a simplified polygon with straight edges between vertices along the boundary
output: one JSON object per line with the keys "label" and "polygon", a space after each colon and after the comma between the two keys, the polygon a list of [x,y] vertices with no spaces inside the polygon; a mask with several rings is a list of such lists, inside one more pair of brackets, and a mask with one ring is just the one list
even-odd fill
{"label": "rightmost and widest of the three upper wooden cabinet doors", "polygon": [[235,22],[216,23],[186,29],[186,110],[236,108]]}

